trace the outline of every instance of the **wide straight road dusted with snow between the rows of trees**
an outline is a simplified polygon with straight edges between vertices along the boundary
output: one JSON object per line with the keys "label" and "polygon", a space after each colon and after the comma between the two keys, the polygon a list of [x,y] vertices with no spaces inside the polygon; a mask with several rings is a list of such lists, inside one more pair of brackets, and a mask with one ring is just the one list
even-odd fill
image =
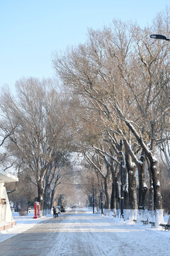
{"label": "wide straight road dusted with snow between the rows of trees", "polygon": [[46,218],[0,242],[3,256],[170,255],[170,232],[130,225],[84,210]]}

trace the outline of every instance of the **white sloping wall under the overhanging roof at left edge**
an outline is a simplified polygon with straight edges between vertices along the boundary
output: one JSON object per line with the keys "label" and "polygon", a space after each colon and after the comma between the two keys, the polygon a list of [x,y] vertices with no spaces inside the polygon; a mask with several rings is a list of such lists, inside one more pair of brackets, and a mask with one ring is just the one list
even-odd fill
{"label": "white sloping wall under the overhanging roof at left edge", "polygon": [[[6,199],[6,204],[1,204],[1,198]],[[4,183],[0,183],[0,224],[10,223],[11,221],[13,221],[13,216],[8,201],[8,195],[6,193],[6,187],[4,186]]]}

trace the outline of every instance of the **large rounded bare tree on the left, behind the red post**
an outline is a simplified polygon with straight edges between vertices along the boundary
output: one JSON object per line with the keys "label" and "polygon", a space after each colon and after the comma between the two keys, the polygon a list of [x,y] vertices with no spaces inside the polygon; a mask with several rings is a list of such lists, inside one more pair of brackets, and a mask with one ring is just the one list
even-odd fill
{"label": "large rounded bare tree on the left, behind the red post", "polygon": [[47,170],[72,139],[67,122],[69,107],[53,80],[23,79],[16,88],[16,99],[9,92],[1,95],[4,124],[6,129],[13,129],[6,149],[32,172],[42,210]]}

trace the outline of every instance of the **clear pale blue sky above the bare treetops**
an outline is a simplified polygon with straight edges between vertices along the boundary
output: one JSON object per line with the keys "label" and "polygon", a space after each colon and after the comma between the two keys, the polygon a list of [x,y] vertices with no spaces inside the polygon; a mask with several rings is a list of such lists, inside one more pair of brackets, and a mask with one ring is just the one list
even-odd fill
{"label": "clear pale blue sky above the bare treetops", "polygon": [[143,27],[166,6],[169,0],[0,0],[0,87],[54,76],[52,52],[86,41],[87,28],[113,18]]}

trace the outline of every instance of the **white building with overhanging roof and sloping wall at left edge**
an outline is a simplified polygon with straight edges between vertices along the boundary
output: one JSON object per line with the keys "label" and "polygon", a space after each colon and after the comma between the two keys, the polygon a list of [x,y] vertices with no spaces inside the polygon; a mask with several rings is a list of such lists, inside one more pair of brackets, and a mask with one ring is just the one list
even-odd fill
{"label": "white building with overhanging roof and sloping wall at left edge", "polygon": [[16,225],[15,221],[13,220],[5,187],[5,183],[16,181],[18,181],[16,176],[7,174],[4,171],[0,171],[0,231],[7,228],[12,228],[13,225]]}

